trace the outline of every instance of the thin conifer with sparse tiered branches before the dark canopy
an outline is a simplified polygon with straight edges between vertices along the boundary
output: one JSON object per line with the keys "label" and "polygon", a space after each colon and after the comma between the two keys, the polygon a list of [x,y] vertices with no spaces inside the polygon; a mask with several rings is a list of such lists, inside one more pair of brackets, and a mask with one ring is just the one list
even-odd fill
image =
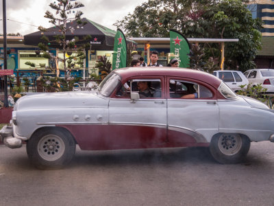
{"label": "thin conifer with sparse tiered branches before the dark canopy", "polygon": [[[84,5],[80,3],[79,1],[75,0],[56,0],[58,3],[50,3],[49,6],[51,9],[55,10],[55,15],[53,13],[47,11],[45,12],[45,18],[49,19],[49,22],[54,25],[54,27],[57,27],[59,29],[60,35],[55,36],[54,41],[49,41],[49,38],[47,36],[42,36],[42,41],[46,42],[45,43],[39,43],[38,47],[44,51],[43,56],[45,58],[52,58],[52,56],[47,52],[49,50],[49,45],[51,43],[58,43],[60,45],[60,48],[62,49],[63,53],[63,58],[62,62],[64,62],[64,71],[65,71],[65,77],[67,78],[67,67],[66,67],[66,60],[69,60],[69,58],[66,58],[66,52],[71,49],[75,49],[77,46],[75,43],[79,40],[79,38],[73,38],[71,40],[66,39],[66,33],[73,32],[77,27],[80,27],[84,25],[85,23],[81,21],[81,16],[83,12],[77,11],[75,12],[74,10],[77,8],[82,8]],[[72,14],[71,14],[72,13]],[[74,16],[73,16],[74,14]],[[71,27],[69,26],[69,22],[71,21],[76,21],[77,22],[77,27]],[[41,32],[46,32],[47,29],[45,27],[38,27],[38,30]],[[90,38],[90,36],[87,36],[86,38]],[[84,47],[87,47],[88,45],[84,45]],[[82,49],[82,48],[79,48]]]}

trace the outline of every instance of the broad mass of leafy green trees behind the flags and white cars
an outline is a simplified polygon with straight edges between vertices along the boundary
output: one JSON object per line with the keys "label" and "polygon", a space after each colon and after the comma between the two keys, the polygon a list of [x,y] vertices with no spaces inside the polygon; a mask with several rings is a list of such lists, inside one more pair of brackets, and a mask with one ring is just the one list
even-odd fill
{"label": "broad mass of leafy green trees behind the flags and white cars", "polygon": [[[240,0],[149,0],[114,25],[134,37],[169,37],[169,30],[175,29],[187,38],[239,38],[238,43],[225,45],[225,67],[242,71],[255,67],[262,29],[262,21],[252,19]],[[221,45],[201,47],[206,53],[203,60],[218,57],[220,66]]]}

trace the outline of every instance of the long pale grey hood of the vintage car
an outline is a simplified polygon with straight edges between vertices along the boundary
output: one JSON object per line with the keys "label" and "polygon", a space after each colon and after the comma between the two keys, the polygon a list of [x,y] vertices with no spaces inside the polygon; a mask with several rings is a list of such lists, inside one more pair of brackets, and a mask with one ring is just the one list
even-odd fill
{"label": "long pale grey hood of the vintage car", "polygon": [[108,107],[108,98],[95,91],[57,92],[25,95],[18,99],[14,111],[42,108]]}

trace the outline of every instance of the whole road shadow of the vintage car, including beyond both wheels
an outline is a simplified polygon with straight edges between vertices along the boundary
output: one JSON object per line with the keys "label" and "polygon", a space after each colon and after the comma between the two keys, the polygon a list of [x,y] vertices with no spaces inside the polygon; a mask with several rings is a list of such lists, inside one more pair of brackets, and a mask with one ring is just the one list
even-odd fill
{"label": "whole road shadow of the vintage car, including beyond both wheels", "polygon": [[[2,148],[3,149],[3,148]],[[10,150],[6,148],[7,154],[2,153],[0,166],[5,168],[19,168],[21,170],[36,170],[29,159],[25,148]],[[3,151],[3,150],[2,150]],[[272,151],[272,150],[271,150]],[[4,155],[4,156],[3,156]],[[262,150],[250,150],[245,162],[236,165],[245,165],[251,168],[269,168],[273,165],[273,153],[266,155]],[[160,148],[140,150],[104,150],[83,151],[77,146],[75,157],[65,168],[77,168],[81,166],[138,166],[138,165],[221,165],[210,155],[208,148]]]}

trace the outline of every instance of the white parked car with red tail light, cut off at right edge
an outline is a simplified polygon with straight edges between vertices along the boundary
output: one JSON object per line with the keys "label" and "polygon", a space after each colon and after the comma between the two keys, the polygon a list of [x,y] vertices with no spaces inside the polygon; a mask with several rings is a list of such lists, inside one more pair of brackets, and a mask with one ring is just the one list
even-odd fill
{"label": "white parked car with red tail light, cut off at right edge", "polygon": [[266,93],[274,93],[274,69],[249,69],[244,75],[251,87],[262,84],[262,87],[267,89]]}

